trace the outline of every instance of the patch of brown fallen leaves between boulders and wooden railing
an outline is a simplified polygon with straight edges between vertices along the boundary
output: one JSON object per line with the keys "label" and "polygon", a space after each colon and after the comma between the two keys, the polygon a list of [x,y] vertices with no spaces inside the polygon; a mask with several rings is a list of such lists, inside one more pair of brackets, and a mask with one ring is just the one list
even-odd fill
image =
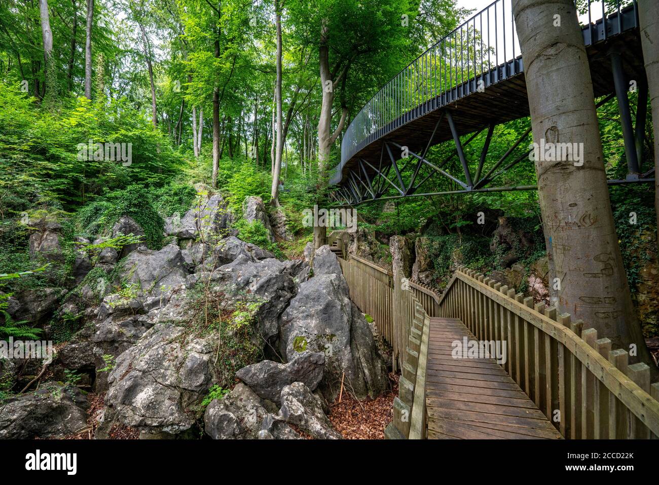
{"label": "patch of brown fallen leaves between boulders and wooden railing", "polygon": [[376,397],[358,401],[343,392],[343,400],[331,405],[329,420],[346,440],[384,440],[384,428],[393,419],[393,397],[398,395],[398,376],[389,374],[391,390]]}

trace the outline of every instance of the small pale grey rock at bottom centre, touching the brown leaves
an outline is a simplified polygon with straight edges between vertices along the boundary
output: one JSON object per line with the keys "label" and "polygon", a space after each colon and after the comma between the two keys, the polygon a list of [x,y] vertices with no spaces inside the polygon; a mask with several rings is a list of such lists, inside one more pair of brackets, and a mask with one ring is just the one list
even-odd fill
{"label": "small pale grey rock at bottom centre, touching the brown leaves", "polygon": [[306,385],[294,382],[281,390],[281,409],[274,420],[295,424],[319,440],[341,440],[341,433],[334,430],[325,415],[320,397]]}

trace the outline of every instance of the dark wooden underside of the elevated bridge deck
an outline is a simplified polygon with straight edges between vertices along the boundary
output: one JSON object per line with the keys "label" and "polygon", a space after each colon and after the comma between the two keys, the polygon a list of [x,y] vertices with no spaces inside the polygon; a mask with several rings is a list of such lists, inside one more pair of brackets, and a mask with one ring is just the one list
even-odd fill
{"label": "dark wooden underside of the elevated bridge deck", "polygon": [[[615,92],[612,66],[608,55],[614,45],[621,49],[623,67],[627,78],[638,80],[640,76],[645,76],[643,57],[641,55],[641,39],[637,29],[627,30],[622,34],[610,38],[606,42],[590,45],[587,47],[588,63],[590,65],[594,96],[596,98]],[[521,64],[519,62],[520,66]],[[511,63],[507,66],[507,69],[511,71]],[[503,68],[500,66],[497,69],[501,70]],[[392,127],[399,126],[396,129],[391,128],[393,130],[390,130],[387,127],[383,128],[382,131],[388,132],[387,134],[370,143],[346,161],[342,169],[341,183],[345,181],[349,171],[358,170],[357,164],[359,159],[368,161],[376,168],[379,167],[378,164],[382,155],[383,142],[395,142],[402,146],[408,146],[413,152],[422,152],[428,144],[428,140],[438,119],[440,119],[442,111],[447,109],[451,111],[457,132],[460,135],[473,133],[490,124],[500,125],[507,121],[529,116],[529,100],[527,98],[527,86],[523,71],[515,76],[496,82],[492,86],[487,86],[484,92],[477,92],[475,90],[474,79],[470,82],[465,82],[464,86],[453,88],[454,91],[461,89],[464,89],[465,92],[471,92],[471,94],[454,103],[449,103],[434,111],[430,111],[430,113],[418,117],[405,125],[399,126],[401,125],[401,121],[391,123]],[[425,104],[431,105],[431,103],[432,101],[427,101]],[[428,111],[428,109],[420,109],[419,112],[424,111]],[[405,117],[401,118],[405,119]],[[452,139],[451,129],[449,128],[447,119],[444,117],[432,140],[431,146]],[[397,159],[400,158],[400,153],[395,153],[394,155]],[[384,157],[382,157],[382,169],[390,163],[385,150]],[[375,171],[370,167],[367,167],[366,171],[370,177],[375,174]]]}

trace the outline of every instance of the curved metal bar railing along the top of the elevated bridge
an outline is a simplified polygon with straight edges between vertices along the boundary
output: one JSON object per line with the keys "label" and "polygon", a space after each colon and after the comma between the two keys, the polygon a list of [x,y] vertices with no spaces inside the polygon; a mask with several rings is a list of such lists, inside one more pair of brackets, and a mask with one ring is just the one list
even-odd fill
{"label": "curved metal bar railing along the top of the elevated bridge", "polygon": [[[375,140],[523,70],[511,1],[496,0],[469,18],[364,105],[343,135],[341,163],[332,183],[340,179],[345,163]],[[633,6],[636,11],[636,0],[577,0],[576,4],[586,45],[629,28],[623,25],[621,9]]]}

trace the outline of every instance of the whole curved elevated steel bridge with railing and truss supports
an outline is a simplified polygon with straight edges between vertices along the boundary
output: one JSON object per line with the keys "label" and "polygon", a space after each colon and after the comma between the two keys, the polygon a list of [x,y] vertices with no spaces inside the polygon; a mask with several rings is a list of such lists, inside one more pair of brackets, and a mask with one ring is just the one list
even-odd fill
{"label": "whole curved elevated steel bridge with railing and truss supports", "polygon": [[[627,176],[612,185],[654,181],[643,167],[648,88],[643,64],[637,1],[579,2],[594,96],[598,107],[617,97],[627,159]],[[630,82],[638,89],[636,122],[629,105]],[[339,204],[409,196],[534,190],[534,185],[498,185],[503,173],[529,156],[530,128],[498,159],[488,159],[496,125],[529,116],[529,101],[511,0],[496,0],[394,76],[364,105],[341,142],[341,163],[329,183]],[[465,146],[486,131],[478,165]],[[461,137],[471,134],[467,140]],[[525,141],[526,140],[526,141]],[[437,163],[428,150],[455,144]],[[457,156],[461,171],[448,167]],[[446,177],[455,190],[426,192],[432,177]]]}

